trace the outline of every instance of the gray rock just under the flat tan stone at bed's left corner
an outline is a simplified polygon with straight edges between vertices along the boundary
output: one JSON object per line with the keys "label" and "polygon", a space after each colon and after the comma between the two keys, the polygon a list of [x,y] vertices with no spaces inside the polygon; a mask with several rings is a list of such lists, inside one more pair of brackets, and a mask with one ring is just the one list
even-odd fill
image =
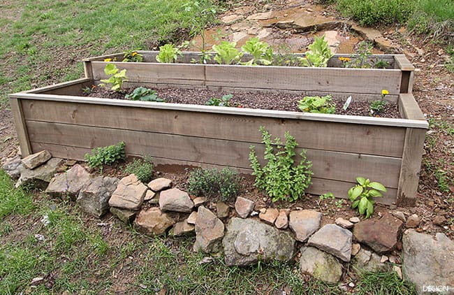
{"label": "gray rock just under the flat tan stone at bed's left corner", "polygon": [[49,185],[50,180],[54,177],[57,168],[59,168],[62,159],[52,158],[45,164],[34,168],[33,170],[24,168],[17,180],[15,187],[24,187],[27,189],[44,190]]}

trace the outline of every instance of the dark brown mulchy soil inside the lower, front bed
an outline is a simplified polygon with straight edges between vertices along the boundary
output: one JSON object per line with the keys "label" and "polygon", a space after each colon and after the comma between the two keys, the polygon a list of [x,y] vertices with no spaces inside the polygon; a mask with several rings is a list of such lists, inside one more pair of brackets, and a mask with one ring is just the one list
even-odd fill
{"label": "dark brown mulchy soil inside the lower, front bed", "polygon": [[[124,89],[124,92],[114,92],[105,87],[95,87],[89,94],[91,97],[106,98],[106,99],[125,99],[125,94],[133,92],[133,88]],[[201,89],[178,89],[178,88],[164,88],[156,90],[159,98],[165,99],[168,103],[182,103],[182,104],[196,104],[205,105],[208,99],[217,98],[221,99],[222,96],[228,93],[201,90]],[[288,93],[256,93],[256,92],[243,92],[233,94],[230,99],[232,106],[240,108],[256,108],[264,110],[287,110],[293,112],[300,112],[298,108],[298,101],[304,95],[301,94],[288,94]],[[345,99],[332,99],[336,103],[337,115],[357,115],[357,116],[370,116],[369,103],[365,101],[352,101],[347,110],[343,110],[342,106]],[[400,118],[400,113],[396,103],[386,103],[383,112],[374,114],[375,117],[390,117]]]}

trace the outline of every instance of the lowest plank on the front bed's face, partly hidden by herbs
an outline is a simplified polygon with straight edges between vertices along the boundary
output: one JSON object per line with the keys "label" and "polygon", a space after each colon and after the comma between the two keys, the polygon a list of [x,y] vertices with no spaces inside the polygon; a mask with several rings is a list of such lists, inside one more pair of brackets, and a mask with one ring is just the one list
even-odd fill
{"label": "lowest plank on the front bed's face, partly hidden by herbs", "polygon": [[[61,157],[65,159],[76,159],[82,161],[84,159],[84,155],[86,153],[91,152],[90,149],[84,147],[66,147],[64,145],[52,145],[48,143],[34,143],[32,142],[31,145],[36,150],[48,150],[54,157]],[[140,156],[140,154],[129,154],[132,156]],[[203,168],[221,168],[222,166],[219,165],[212,165],[212,164],[200,164],[192,161],[182,161],[182,160],[175,160],[175,159],[163,159],[159,157],[153,158],[154,164],[177,164],[177,165],[184,165],[184,166],[200,166]],[[239,171],[240,173],[251,173],[251,169],[240,169],[232,167],[235,170]],[[337,198],[347,198],[346,192],[348,192],[350,187],[355,185],[354,182],[341,182],[336,180],[327,180],[321,178],[312,178],[312,185],[307,189],[307,193],[309,194],[323,194],[325,192],[332,192]],[[387,187],[388,192],[385,194],[383,198],[376,198],[375,200],[379,203],[383,204],[391,204],[395,203],[395,196],[397,195],[397,189]]]}

